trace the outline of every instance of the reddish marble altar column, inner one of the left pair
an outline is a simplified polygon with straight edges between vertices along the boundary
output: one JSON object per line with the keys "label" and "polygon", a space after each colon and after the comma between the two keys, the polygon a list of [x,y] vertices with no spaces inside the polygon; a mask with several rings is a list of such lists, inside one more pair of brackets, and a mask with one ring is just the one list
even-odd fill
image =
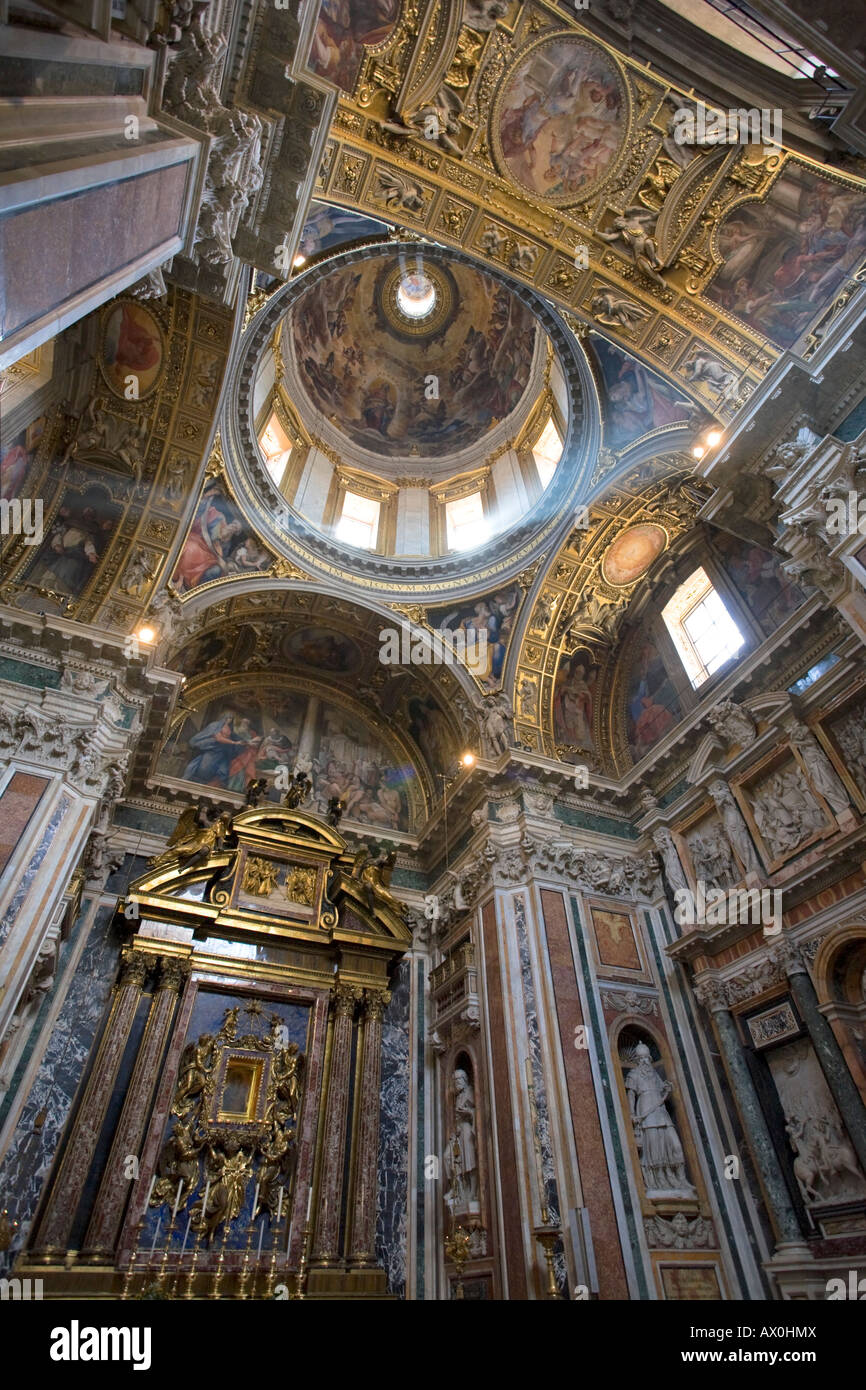
{"label": "reddish marble altar column, inner one of the left pair", "polygon": [[114,1250],[129,1191],[124,1163],[131,1154],[140,1152],[153,1093],[160,1080],[160,1059],[168,1042],[178,994],[188,974],[189,966],[185,960],[178,956],[160,958],[156,994],[85,1236],[82,1248],[85,1259],[101,1261]]}

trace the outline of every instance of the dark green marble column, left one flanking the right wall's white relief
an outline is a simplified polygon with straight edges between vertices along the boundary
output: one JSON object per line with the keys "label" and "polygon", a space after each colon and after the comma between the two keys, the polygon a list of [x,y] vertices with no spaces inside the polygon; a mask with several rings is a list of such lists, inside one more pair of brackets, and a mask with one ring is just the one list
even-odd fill
{"label": "dark green marble column, left one flanking the right wall's white relief", "polygon": [[717,980],[699,981],[695,986],[695,995],[713,1019],[724,1069],[766,1195],[767,1211],[773,1222],[777,1243],[787,1247],[802,1247],[805,1245],[803,1233],[794,1209],[794,1202],[791,1201],[788,1184],[778,1165],[776,1147],[742,1054],[742,1044],[737,1033],[737,1024],[727,1006],[723,986]]}

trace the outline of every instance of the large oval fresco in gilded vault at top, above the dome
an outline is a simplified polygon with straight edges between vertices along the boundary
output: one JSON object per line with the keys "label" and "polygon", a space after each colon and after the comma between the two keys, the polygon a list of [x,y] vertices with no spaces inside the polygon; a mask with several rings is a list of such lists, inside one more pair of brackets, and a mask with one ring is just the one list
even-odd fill
{"label": "large oval fresco in gilded vault at top, above the dome", "polygon": [[505,78],[492,133],[500,168],[528,193],[580,202],[623,153],[628,96],[619,67],[577,35],[541,39]]}

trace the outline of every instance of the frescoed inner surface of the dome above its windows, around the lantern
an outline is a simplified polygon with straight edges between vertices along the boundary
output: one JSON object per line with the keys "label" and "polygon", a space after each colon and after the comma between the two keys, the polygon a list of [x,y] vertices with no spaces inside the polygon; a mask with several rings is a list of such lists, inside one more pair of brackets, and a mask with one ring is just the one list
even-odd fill
{"label": "frescoed inner surface of the dome above its windows, around the lantern", "polygon": [[286,329],[310,406],[353,445],[389,459],[477,443],[520,403],[539,332],[492,277],[406,254],[318,279]]}

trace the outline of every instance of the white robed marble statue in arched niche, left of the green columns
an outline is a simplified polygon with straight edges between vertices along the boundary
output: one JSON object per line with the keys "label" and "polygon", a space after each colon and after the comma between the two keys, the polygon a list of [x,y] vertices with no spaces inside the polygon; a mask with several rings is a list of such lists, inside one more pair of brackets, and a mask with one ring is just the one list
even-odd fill
{"label": "white robed marble statue in arched niche, left of the green columns", "polygon": [[620,1055],[630,1068],[626,1094],[646,1195],[692,1197],[680,1134],[666,1105],[673,1091],[670,1081],[656,1070],[645,1042]]}

